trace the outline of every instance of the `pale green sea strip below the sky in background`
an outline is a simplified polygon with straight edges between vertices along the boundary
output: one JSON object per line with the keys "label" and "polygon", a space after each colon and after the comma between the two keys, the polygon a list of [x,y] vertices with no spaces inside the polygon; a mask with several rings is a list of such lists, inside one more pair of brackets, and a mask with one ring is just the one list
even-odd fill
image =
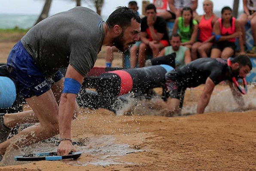
{"label": "pale green sea strip below the sky in background", "polygon": [[[220,17],[220,11],[214,12]],[[241,14],[241,12],[238,12]],[[238,14],[238,16],[239,16]],[[21,29],[29,29],[34,26],[37,18],[40,14],[1,14],[0,13],[0,29],[12,29],[15,27]],[[102,17],[104,21],[107,20],[107,16]]]}

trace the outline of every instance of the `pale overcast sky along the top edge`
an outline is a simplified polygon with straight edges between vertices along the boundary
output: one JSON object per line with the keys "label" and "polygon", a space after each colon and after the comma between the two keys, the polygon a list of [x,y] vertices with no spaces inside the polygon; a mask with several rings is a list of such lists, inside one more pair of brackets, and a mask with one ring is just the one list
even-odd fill
{"label": "pale overcast sky along the top edge", "polygon": [[[82,0],[82,6],[89,7],[95,11],[92,6],[86,3],[88,0]],[[141,13],[142,0],[136,0]],[[149,0],[151,3],[153,0]],[[198,0],[198,14],[203,14],[202,3],[204,0]],[[105,0],[102,16],[109,16],[116,6],[128,6],[129,0]],[[213,0],[214,10],[221,10],[223,6],[233,7],[233,0]],[[243,10],[243,0],[240,0],[239,10]],[[43,9],[44,0],[0,0],[0,13],[2,14],[36,14],[39,15]],[[66,11],[76,6],[75,0],[52,0],[50,15]]]}

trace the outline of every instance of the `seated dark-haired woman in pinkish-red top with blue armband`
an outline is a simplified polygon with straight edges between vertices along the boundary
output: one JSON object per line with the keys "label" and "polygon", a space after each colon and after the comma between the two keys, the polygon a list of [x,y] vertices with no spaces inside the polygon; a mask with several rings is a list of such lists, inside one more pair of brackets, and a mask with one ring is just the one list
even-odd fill
{"label": "seated dark-haired woman in pinkish-red top with blue armband", "polygon": [[235,39],[239,39],[240,54],[244,54],[243,40],[239,21],[232,17],[232,9],[228,6],[222,8],[221,18],[213,27],[215,43],[212,46],[211,58],[224,58],[234,56]]}

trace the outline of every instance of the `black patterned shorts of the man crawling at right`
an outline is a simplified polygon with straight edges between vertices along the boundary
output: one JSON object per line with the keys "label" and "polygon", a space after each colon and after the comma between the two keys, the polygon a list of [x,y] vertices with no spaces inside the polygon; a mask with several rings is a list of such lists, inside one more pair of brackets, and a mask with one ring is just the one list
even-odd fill
{"label": "black patterned shorts of the man crawling at right", "polygon": [[183,100],[185,96],[186,87],[180,86],[178,81],[172,81],[171,79],[166,80],[167,98],[171,97],[180,100],[180,108],[183,106]]}

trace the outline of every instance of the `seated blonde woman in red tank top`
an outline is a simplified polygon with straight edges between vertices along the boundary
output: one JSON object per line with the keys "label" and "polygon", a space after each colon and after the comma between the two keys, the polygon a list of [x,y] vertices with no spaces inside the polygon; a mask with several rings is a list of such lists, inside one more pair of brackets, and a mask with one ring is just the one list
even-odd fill
{"label": "seated blonde woman in red tank top", "polygon": [[214,36],[213,24],[217,20],[217,16],[213,13],[213,2],[204,0],[203,3],[204,15],[198,15],[195,20],[199,23],[198,42],[195,42],[191,48],[191,58],[196,60],[199,57],[208,57],[210,49],[213,45]]}

